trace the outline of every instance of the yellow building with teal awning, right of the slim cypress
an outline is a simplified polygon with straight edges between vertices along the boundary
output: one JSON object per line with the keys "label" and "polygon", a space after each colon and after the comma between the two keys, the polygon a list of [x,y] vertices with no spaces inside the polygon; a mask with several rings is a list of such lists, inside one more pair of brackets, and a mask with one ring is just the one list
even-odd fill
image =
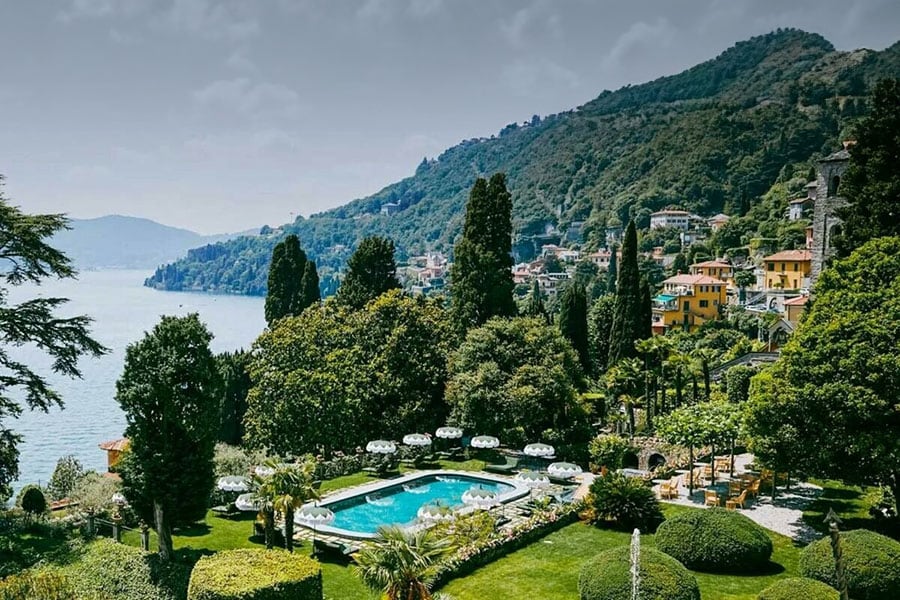
{"label": "yellow building with teal awning, right of the slim cypress", "polygon": [[725,305],[727,284],[708,275],[676,275],[663,281],[662,292],[653,299],[653,332],[681,328],[692,331],[706,321],[719,318]]}

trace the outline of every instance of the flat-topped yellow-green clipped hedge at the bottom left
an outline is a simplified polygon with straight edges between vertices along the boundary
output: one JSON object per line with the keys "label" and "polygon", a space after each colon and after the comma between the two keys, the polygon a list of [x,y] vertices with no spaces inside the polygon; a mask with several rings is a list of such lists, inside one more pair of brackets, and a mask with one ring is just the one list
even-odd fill
{"label": "flat-topped yellow-green clipped hedge at the bottom left", "polygon": [[201,558],[188,600],[322,600],[319,563],[282,550],[225,550]]}

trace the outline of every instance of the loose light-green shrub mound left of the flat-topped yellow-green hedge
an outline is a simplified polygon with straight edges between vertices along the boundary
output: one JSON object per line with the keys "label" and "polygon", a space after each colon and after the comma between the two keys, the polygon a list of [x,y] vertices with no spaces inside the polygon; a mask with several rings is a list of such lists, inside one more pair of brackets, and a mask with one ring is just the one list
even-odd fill
{"label": "loose light-green shrub mound left of the flat-topped yellow-green hedge", "polygon": [[159,556],[100,539],[84,546],[60,572],[76,598],[173,600],[184,597],[187,567],[160,564]]}

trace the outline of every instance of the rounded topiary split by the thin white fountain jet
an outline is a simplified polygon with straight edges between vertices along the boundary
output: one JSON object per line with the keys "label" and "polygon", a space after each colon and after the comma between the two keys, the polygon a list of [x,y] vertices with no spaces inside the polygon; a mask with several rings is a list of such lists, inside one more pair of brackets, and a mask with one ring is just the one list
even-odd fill
{"label": "rounded topiary split by the thin white fountain jet", "polygon": [[[700,600],[691,573],[671,556],[641,548],[639,600]],[[581,567],[581,600],[631,600],[631,548],[601,552]]]}

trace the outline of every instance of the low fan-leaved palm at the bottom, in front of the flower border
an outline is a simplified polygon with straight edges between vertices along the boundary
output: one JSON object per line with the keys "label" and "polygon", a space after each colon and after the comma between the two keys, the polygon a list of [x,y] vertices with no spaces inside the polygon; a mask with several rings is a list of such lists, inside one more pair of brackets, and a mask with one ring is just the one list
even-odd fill
{"label": "low fan-leaved palm at the bottom, in front of the flower border", "polygon": [[354,571],[387,600],[436,600],[431,587],[441,558],[450,550],[449,539],[429,529],[381,527],[374,543],[356,554]]}

